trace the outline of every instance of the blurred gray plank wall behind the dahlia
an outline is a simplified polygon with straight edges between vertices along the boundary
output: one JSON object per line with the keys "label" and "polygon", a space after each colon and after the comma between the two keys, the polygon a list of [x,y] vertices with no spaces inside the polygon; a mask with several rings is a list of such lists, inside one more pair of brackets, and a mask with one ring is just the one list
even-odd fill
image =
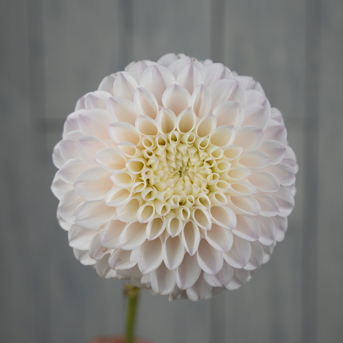
{"label": "blurred gray plank wall behind the dahlia", "polygon": [[55,219],[51,151],[76,99],[132,60],[167,52],[261,82],[300,171],[271,261],[238,291],[141,295],[155,343],[342,342],[343,1],[5,0],[0,10],[2,342],[84,343],[122,332],[120,281],[82,266]]}

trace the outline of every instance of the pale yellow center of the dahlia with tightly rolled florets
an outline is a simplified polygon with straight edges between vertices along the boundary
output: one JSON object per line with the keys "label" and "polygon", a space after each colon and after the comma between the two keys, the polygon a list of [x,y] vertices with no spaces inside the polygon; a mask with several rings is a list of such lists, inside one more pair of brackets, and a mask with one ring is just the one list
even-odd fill
{"label": "pale yellow center of the dahlia with tightly rolled florets", "polygon": [[212,202],[218,196],[226,201],[231,163],[224,152],[230,137],[223,138],[221,132],[212,135],[215,127],[206,120],[185,119],[169,133],[166,128],[157,129],[154,120],[136,125],[140,139],[124,172],[133,178],[131,197],[141,203],[140,222],[168,214],[187,221],[194,208],[208,211],[211,198]]}

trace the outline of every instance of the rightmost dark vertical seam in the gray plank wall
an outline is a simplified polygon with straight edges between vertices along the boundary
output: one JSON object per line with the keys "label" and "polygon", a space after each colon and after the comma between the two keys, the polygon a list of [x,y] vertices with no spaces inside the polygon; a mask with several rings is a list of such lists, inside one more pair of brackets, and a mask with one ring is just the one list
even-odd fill
{"label": "rightmost dark vertical seam in the gray plank wall", "polygon": [[[318,131],[320,110],[320,0],[307,0],[304,69],[304,216],[301,341],[317,342]],[[301,163],[300,163],[301,167]]]}

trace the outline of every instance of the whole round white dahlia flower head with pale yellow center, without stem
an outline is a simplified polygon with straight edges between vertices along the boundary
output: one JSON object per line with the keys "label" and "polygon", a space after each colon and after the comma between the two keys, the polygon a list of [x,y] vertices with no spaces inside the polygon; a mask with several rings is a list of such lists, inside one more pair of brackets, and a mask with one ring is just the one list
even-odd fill
{"label": "whole round white dahlia flower head with pale yellow center, without stem", "polygon": [[250,76],[167,54],[106,76],[53,152],[57,218],[84,265],[170,299],[236,289],[294,207],[281,112]]}

